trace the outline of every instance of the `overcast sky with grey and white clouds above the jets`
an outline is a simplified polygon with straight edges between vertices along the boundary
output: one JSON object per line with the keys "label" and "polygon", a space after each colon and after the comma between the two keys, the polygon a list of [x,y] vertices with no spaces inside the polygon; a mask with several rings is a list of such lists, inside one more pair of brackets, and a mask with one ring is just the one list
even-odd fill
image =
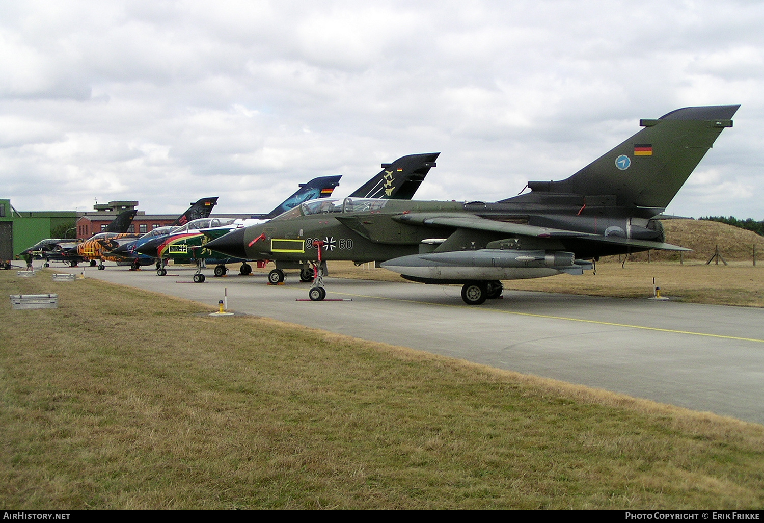
{"label": "overcast sky with grey and white clouds above the jets", "polygon": [[764,3],[6,2],[0,195],[270,210],[441,151],[418,199],[559,180],[683,106],[741,104],[670,213],[764,219]]}

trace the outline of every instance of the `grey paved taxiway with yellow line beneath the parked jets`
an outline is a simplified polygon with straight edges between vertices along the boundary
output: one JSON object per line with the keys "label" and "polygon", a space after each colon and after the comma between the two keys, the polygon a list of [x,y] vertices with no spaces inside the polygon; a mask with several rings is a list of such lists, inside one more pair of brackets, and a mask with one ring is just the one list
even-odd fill
{"label": "grey paved taxiway with yellow line beneath the parked jets", "polygon": [[206,270],[194,284],[190,268],[53,268],[215,307],[227,287],[238,312],[764,424],[761,309],[520,291],[475,307],[457,286],[340,278],[312,302],[296,274],[268,285]]}

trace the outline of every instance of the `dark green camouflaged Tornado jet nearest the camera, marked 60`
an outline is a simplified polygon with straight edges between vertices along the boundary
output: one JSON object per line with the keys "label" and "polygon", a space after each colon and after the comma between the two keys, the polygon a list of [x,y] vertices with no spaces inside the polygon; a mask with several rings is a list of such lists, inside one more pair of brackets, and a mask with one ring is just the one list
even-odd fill
{"label": "dark green camouflaged Tornado jet nearest the camera, marked 60", "polygon": [[[304,261],[377,261],[409,280],[461,284],[467,304],[499,297],[501,280],[583,274],[607,255],[688,250],[665,243],[659,213],[739,107],[686,107],[640,120],[639,132],[571,177],[530,181],[529,193],[495,203],[308,202],[207,248],[274,260],[276,271]],[[325,297],[317,266],[312,300]]]}

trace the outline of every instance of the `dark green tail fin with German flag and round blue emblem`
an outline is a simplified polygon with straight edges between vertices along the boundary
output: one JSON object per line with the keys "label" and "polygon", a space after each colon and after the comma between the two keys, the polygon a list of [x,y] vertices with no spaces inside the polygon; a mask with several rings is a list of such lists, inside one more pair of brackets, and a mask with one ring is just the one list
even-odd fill
{"label": "dark green tail fin with German flag and round blue emblem", "polygon": [[643,129],[560,181],[530,181],[541,193],[614,195],[619,206],[665,209],[740,106],[676,109],[639,121]]}

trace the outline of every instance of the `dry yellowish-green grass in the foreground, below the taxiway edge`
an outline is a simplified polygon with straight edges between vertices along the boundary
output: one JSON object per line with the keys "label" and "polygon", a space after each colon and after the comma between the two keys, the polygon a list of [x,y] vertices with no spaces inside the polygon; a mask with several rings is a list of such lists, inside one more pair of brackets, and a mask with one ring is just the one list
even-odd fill
{"label": "dry yellowish-green grass in the foreground, below the taxiway edge", "polygon": [[764,427],[0,272],[2,508],[760,508]]}

